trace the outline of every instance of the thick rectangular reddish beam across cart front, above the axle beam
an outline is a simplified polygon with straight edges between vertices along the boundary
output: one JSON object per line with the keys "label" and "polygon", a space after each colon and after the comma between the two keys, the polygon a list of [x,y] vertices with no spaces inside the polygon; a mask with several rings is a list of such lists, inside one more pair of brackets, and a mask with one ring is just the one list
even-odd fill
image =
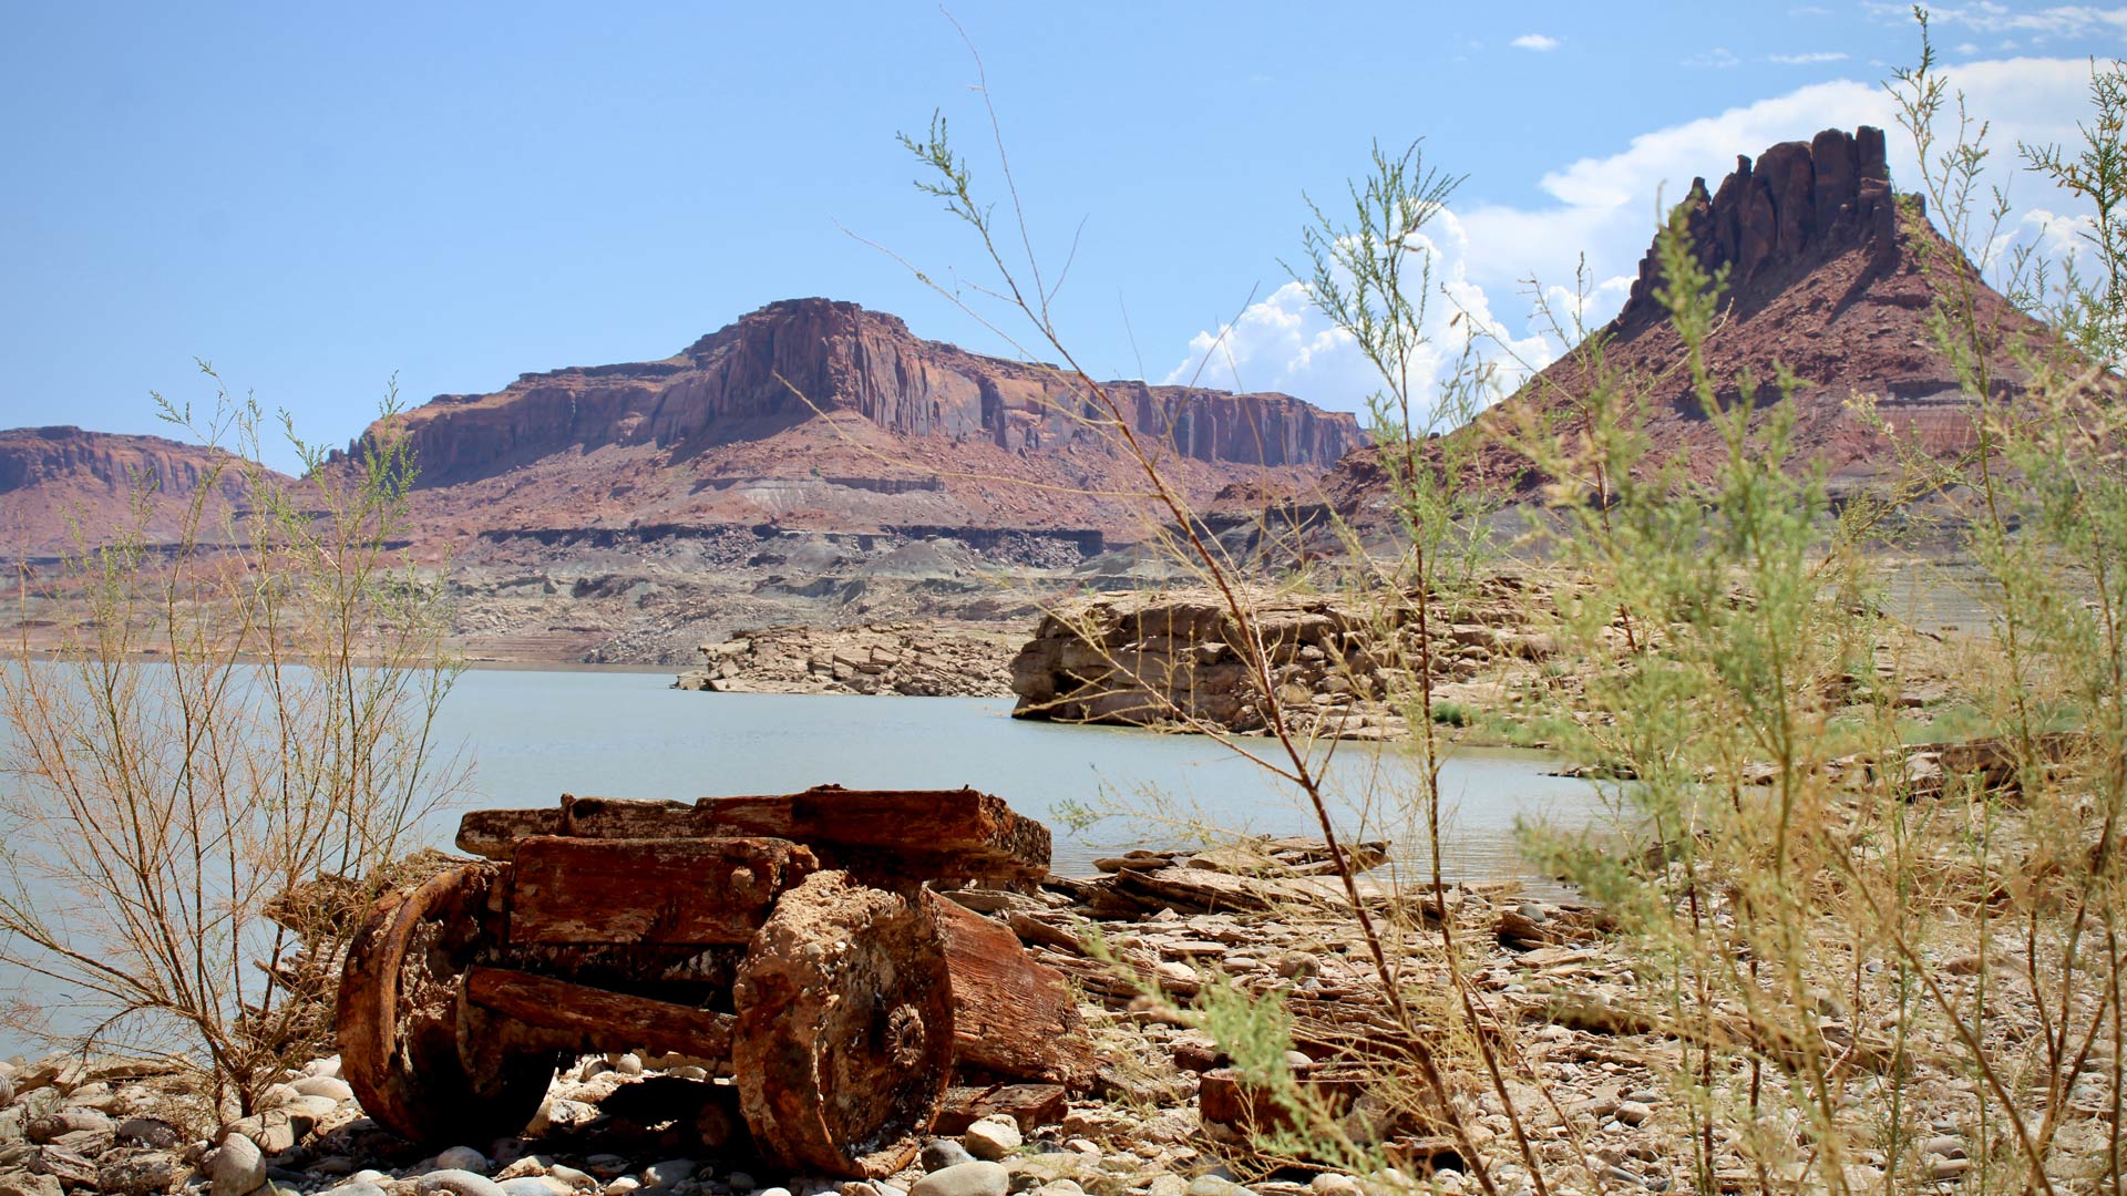
{"label": "thick rectangular reddish beam across cart front, above the axle beam", "polygon": [[781,838],[534,836],[515,860],[515,945],[747,943],[776,896],[819,870]]}

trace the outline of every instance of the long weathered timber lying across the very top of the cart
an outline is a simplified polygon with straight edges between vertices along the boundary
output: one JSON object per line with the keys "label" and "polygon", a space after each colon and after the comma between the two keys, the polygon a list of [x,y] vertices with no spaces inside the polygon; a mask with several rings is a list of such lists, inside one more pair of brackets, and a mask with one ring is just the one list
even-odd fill
{"label": "long weathered timber lying across the very top of the cart", "polygon": [[515,858],[532,836],[574,838],[795,838],[830,866],[923,879],[1029,881],[1049,873],[1049,828],[976,790],[844,790],[702,798],[700,802],[579,798],[559,811],[472,811],[457,845],[489,860]]}

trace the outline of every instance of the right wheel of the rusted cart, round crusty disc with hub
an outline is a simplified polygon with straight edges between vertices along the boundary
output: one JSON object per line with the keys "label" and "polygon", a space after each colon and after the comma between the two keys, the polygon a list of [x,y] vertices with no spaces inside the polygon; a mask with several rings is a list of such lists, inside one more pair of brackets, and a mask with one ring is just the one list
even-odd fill
{"label": "right wheel of the rusted cart, round crusty disc with hub", "polygon": [[953,1079],[944,938],[921,892],[815,873],[738,966],[732,1073],[781,1162],[878,1179],[915,1158]]}

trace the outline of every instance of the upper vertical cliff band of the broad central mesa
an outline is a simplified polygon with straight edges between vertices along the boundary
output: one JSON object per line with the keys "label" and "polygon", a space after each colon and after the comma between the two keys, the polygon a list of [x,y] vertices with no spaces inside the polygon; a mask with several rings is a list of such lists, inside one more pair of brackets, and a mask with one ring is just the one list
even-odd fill
{"label": "upper vertical cliff band of the broad central mesa", "polygon": [[[1355,447],[1351,415],[1283,394],[1112,383],[1134,430],[1206,464],[1327,468]],[[687,458],[817,415],[857,415],[898,438],[1053,453],[1098,436],[1053,370],[919,340],[893,315],[787,300],[661,362],[525,375],[487,396],[413,411],[423,485],[500,475],[555,453],[647,445]]]}

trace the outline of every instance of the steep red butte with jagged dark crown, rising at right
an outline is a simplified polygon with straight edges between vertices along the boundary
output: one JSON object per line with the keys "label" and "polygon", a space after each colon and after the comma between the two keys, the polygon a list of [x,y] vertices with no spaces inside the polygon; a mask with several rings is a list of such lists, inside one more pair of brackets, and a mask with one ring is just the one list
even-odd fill
{"label": "steep red butte with jagged dark crown, rising at right", "polygon": [[[1789,462],[1823,464],[1833,492],[1870,487],[1897,468],[1893,443],[1853,411],[1857,394],[1874,396],[1889,428],[1923,451],[1948,455],[1976,443],[1972,404],[1927,328],[1936,287],[1955,270],[1974,277],[1974,317],[2002,347],[1995,385],[2012,394],[2029,381],[2008,345],[2046,330],[1978,281],[1916,200],[1902,204],[1882,130],[1825,130],[1808,143],[1774,145],[1755,162],[1738,157],[1716,189],[1695,179],[1680,209],[1699,264],[1708,275],[1727,270],[1723,321],[1706,343],[1719,402],[1736,402],[1736,379],[1748,372],[1759,381],[1759,404],[1772,404],[1772,379],[1791,370],[1799,385],[1789,396],[1797,415]],[[1608,372],[1631,379],[1648,464],[1682,453],[1704,477],[1723,449],[1691,389],[1685,345],[1657,296],[1661,283],[1657,249],[1648,247],[1629,300],[1597,332],[1602,360]],[[1574,400],[1593,385],[1591,366],[1587,347],[1568,353],[1457,434],[1495,436],[1538,413],[1570,434]],[[1480,468],[1495,481],[1538,481],[1497,443],[1483,451]],[[1387,524],[1387,477],[1372,449],[1346,458],[1323,487],[1349,515]]]}

